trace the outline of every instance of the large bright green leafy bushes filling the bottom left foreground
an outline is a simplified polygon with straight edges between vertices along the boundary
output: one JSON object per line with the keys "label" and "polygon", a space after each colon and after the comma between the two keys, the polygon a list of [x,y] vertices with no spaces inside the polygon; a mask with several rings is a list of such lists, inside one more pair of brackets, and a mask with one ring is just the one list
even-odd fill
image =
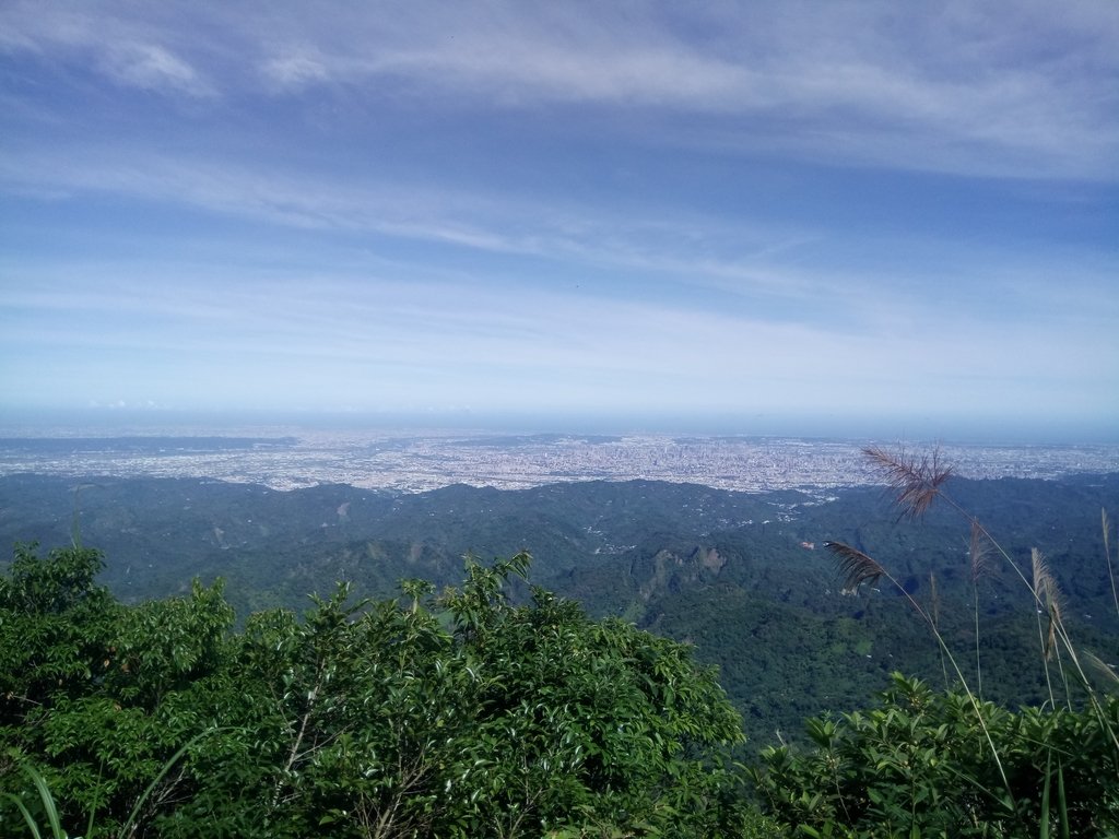
{"label": "large bright green leafy bushes filling the bottom left foreground", "polygon": [[[233,631],[219,585],[133,607],[101,556],[20,549],[0,582],[3,832],[164,837],[740,836],[736,711],[690,650],[546,592],[526,555],[431,598]],[[48,805],[47,810],[50,809]],[[38,810],[38,812],[37,812]]]}

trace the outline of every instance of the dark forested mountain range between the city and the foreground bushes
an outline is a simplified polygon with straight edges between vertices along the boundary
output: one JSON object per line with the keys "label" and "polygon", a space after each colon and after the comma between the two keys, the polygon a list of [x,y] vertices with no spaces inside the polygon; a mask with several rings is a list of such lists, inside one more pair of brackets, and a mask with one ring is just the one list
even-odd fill
{"label": "dark forested mountain range between the city and the foreground bushes", "polygon": [[[1100,512],[1119,475],[1062,481],[953,479],[951,498],[1022,568],[1044,552],[1066,621],[1107,662],[1119,621]],[[104,552],[102,582],[125,601],[226,581],[243,620],[273,605],[303,610],[312,592],[351,581],[361,594],[403,578],[461,579],[463,555],[529,552],[532,583],[593,615],[695,644],[745,717],[753,745],[796,737],[801,720],[865,705],[902,670],[942,681],[929,628],[888,583],[844,593],[827,540],[877,559],[975,671],[974,596],[985,694],[1040,699],[1033,604],[1005,560],[972,586],[969,522],[948,506],[900,520],[881,489],[740,493],[649,481],[499,491],[453,486],[397,494],[332,484],[281,492],[192,479],[0,478],[0,539]],[[931,576],[930,576],[931,575]],[[1028,666],[1024,666],[1028,662]],[[753,747],[753,745],[751,747]]]}

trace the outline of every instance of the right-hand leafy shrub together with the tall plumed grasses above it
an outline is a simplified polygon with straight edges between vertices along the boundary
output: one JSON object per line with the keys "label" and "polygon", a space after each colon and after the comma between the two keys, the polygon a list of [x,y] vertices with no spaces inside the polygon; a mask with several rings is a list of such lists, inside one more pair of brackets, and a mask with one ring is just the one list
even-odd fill
{"label": "right-hand leafy shrub together with the tall plumed grasses above it", "polygon": [[[1044,556],[1032,550],[1027,576],[946,494],[951,469],[935,452],[866,454],[883,470],[902,517],[920,519],[939,502],[968,520],[975,658],[958,660],[941,631],[934,578],[930,602],[922,604],[868,554],[828,543],[848,590],[881,583],[902,594],[935,639],[944,680],[955,687],[934,694],[895,675],[881,708],[809,720],[814,747],[807,753],[764,750],[764,770],[754,776],[772,811],[812,837],[1119,835],[1119,699],[1098,689],[1113,690],[1119,679],[1113,667],[1073,643],[1064,597]],[[1106,511],[1102,531],[1115,594]],[[1032,598],[1049,692],[1038,708],[1010,713],[981,699],[978,583],[995,560],[1010,567]],[[1119,595],[1115,607],[1119,612]]]}

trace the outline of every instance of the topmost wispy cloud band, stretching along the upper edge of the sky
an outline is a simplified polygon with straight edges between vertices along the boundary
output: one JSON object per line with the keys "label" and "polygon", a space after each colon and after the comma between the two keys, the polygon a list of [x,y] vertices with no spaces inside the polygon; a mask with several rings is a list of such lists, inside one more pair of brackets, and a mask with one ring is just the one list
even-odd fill
{"label": "topmost wispy cloud band, stretching along the upper edge of the sky", "polygon": [[[8,50],[198,95],[340,86],[451,112],[645,114],[646,142],[980,176],[1119,177],[1119,15],[1099,2],[11,3]],[[203,46],[205,45],[205,46]],[[206,68],[204,75],[200,68]],[[603,122],[596,121],[595,130]],[[627,129],[614,122],[610,130]]]}

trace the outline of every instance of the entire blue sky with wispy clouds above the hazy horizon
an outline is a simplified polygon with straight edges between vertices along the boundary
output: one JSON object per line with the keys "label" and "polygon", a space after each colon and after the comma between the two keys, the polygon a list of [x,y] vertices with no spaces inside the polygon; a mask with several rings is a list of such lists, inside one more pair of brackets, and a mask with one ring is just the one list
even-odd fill
{"label": "entire blue sky with wispy clouds above the hazy horizon", "polygon": [[8,412],[1119,430],[1119,3],[8,0],[0,79]]}

